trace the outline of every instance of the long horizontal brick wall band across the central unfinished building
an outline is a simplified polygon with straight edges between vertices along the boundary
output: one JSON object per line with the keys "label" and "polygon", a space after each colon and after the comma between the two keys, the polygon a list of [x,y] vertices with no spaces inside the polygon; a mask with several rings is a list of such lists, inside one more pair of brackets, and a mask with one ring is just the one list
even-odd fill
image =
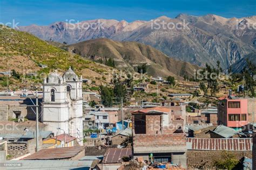
{"label": "long horizontal brick wall band across the central unfinished building", "polygon": [[184,133],[169,134],[133,134],[133,147],[142,146],[184,146],[186,147],[186,136]]}

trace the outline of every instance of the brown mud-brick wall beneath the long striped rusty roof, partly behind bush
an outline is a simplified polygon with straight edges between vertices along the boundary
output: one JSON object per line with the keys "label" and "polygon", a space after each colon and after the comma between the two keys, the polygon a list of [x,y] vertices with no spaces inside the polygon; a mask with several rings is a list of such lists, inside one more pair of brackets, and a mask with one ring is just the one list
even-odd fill
{"label": "brown mud-brick wall beneath the long striped rusty roof, partly behind bush", "polygon": [[[195,168],[212,168],[215,160],[221,159],[221,153],[223,151],[187,151],[187,164],[189,169]],[[242,157],[252,158],[251,151],[228,151],[233,154],[235,158],[241,159]]]}

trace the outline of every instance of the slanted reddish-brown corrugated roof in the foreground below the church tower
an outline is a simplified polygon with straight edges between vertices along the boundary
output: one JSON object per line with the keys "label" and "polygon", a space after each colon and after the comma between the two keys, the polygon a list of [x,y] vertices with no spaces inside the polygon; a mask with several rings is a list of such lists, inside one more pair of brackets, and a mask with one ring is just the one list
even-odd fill
{"label": "slanted reddish-brown corrugated roof in the foreground below the church tower", "polygon": [[75,147],[60,147],[42,149],[23,160],[54,160],[54,159],[69,159],[75,157],[79,152],[84,151],[83,146]]}

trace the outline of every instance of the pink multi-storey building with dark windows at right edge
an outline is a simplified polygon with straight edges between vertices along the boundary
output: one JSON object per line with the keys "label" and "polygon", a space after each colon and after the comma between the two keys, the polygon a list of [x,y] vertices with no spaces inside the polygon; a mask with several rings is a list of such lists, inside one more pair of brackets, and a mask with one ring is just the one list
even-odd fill
{"label": "pink multi-storey building with dark windows at right edge", "polygon": [[241,128],[256,122],[256,98],[225,96],[219,98],[218,124],[231,128]]}

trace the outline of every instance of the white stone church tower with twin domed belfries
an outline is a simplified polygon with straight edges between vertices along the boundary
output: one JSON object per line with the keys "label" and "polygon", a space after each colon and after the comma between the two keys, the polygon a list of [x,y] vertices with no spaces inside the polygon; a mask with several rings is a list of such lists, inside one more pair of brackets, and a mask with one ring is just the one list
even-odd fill
{"label": "white stone church tower with twin domed belfries", "polygon": [[[82,76],[69,68],[62,76],[51,73],[43,84],[43,123],[55,134],[75,136],[83,145]],[[59,130],[58,130],[59,129]]]}

